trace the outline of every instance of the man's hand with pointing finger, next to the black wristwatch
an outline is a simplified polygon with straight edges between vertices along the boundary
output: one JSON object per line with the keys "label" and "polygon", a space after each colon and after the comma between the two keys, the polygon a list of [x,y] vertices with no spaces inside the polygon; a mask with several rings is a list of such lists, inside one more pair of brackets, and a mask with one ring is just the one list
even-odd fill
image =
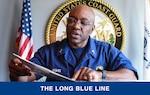
{"label": "man's hand with pointing finger, next to the black wristwatch", "polygon": [[88,67],[80,68],[72,77],[73,80],[78,81],[102,81],[102,72],[95,71]]}

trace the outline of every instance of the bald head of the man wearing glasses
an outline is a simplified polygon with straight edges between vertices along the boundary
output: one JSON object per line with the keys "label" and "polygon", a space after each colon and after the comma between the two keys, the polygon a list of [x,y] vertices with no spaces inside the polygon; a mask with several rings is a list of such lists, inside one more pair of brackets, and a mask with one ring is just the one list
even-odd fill
{"label": "bald head of the man wearing glasses", "polygon": [[92,8],[78,5],[71,10],[67,19],[67,38],[72,48],[86,46],[89,35],[94,30],[95,15]]}

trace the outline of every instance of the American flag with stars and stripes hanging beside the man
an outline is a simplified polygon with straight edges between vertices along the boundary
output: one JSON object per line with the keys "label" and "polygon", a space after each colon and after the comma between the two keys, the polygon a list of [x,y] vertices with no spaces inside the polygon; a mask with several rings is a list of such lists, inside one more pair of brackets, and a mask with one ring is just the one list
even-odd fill
{"label": "American flag with stars and stripes hanging beside the man", "polygon": [[29,60],[33,56],[32,18],[30,0],[23,0],[21,24],[16,38],[18,55]]}

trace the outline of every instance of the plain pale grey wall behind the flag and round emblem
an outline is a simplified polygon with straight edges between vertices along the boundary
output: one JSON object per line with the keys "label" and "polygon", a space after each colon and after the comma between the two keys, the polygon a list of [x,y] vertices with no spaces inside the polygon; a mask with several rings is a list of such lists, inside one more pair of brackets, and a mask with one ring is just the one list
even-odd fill
{"label": "plain pale grey wall behind the flag and round emblem", "polygon": [[[0,81],[9,81],[8,63],[16,52],[23,0],[0,0]],[[45,28],[52,12],[67,0],[31,0],[33,39],[35,51],[45,44]],[[126,31],[123,52],[132,61],[142,79],[143,73],[143,0],[104,0],[121,16]]]}

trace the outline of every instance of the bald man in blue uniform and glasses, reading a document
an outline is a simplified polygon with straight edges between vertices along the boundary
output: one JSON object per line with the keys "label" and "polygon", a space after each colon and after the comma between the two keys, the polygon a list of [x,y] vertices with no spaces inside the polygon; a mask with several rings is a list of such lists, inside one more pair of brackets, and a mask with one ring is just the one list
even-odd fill
{"label": "bald man in blue uniform and glasses, reading a document", "polygon": [[[41,47],[30,61],[75,81],[137,80],[136,69],[120,50],[90,38],[95,28],[94,17],[90,7],[76,6],[67,19],[67,38]],[[9,64],[9,70],[12,81],[41,77],[16,58]]]}

